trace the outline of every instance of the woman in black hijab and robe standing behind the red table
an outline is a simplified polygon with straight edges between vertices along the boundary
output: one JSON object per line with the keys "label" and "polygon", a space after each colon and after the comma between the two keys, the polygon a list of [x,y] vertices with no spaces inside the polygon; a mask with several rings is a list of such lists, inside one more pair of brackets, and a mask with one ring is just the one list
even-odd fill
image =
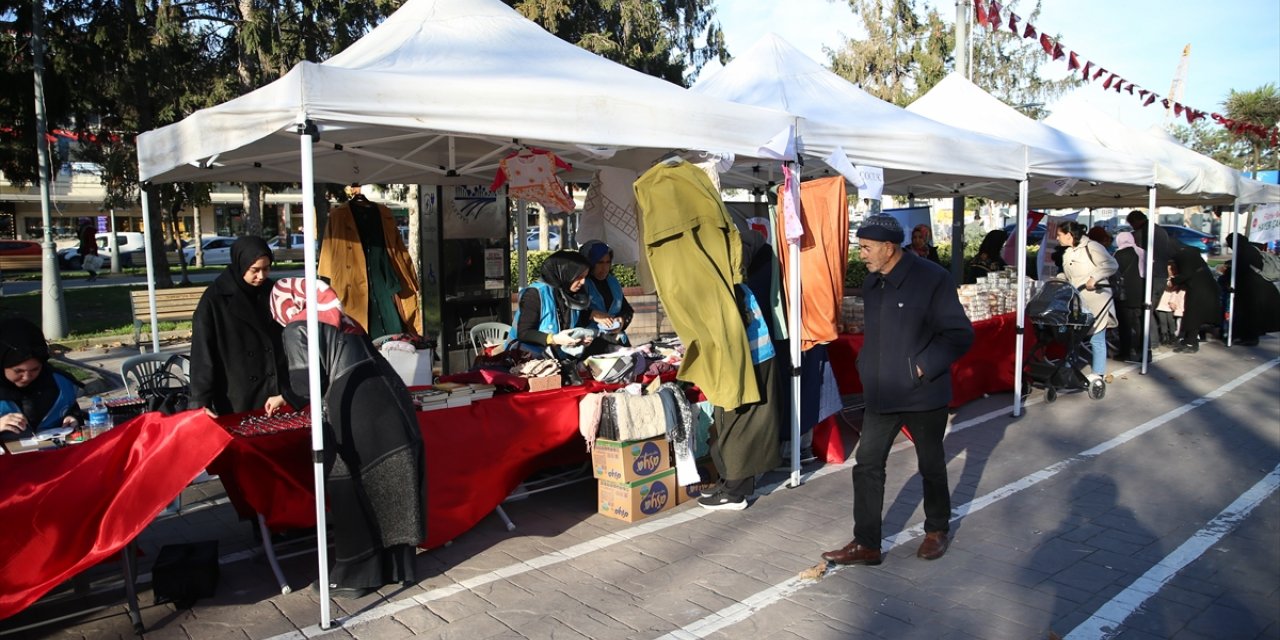
{"label": "woman in black hijab and robe standing behind the red table", "polygon": [[271,321],[271,248],[247,236],[200,298],[191,326],[191,408],[210,416],[284,407],[280,325]]}

